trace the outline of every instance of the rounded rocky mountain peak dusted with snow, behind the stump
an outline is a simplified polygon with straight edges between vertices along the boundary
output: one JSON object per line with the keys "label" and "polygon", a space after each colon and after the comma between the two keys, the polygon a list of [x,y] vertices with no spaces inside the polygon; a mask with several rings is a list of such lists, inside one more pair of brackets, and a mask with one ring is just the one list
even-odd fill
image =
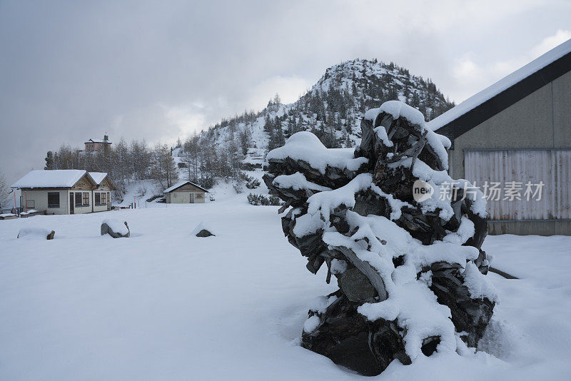
{"label": "rounded rocky mountain peak dusted with snow, behind the stump", "polygon": [[363,113],[395,99],[418,108],[427,120],[454,106],[430,79],[393,63],[355,59],[328,68],[295,103],[283,104],[276,96],[263,111],[216,123],[200,140],[228,153],[237,151],[243,163],[258,164],[268,149],[298,131],[315,133],[330,148],[355,146]]}

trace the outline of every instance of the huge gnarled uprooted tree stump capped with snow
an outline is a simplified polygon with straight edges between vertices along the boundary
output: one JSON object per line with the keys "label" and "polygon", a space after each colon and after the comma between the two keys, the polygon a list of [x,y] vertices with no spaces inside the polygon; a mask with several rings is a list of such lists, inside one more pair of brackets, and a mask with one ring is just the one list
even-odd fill
{"label": "huge gnarled uprooted tree stump capped with snow", "polygon": [[355,150],[295,133],[268,153],[263,179],[285,201],[283,232],[308,270],[325,263],[339,286],[309,311],[303,347],[378,375],[395,359],[475,347],[495,291],[485,198],[448,176],[450,140],[398,101],[365,113],[361,130]]}

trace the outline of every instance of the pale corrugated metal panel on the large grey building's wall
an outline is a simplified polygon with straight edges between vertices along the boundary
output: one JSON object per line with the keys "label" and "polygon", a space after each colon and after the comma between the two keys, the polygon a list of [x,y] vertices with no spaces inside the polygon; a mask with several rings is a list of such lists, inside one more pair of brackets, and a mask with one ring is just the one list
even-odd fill
{"label": "pale corrugated metal panel on the large grey building's wall", "polygon": [[[481,190],[486,182],[501,183],[500,200],[487,201],[491,220],[571,218],[571,150],[467,150],[464,168],[465,178]],[[506,199],[512,181],[522,184],[520,200]],[[527,200],[528,182],[543,183],[539,200],[537,195]]]}

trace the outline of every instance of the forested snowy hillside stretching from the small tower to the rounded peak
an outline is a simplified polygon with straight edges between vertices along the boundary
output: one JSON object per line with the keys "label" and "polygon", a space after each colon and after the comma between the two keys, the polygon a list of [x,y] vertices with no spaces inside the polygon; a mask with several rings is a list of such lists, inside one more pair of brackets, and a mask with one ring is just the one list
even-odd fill
{"label": "forested snowy hillside stretching from the small tower to the rounded peak", "polygon": [[427,120],[454,106],[430,79],[412,76],[393,63],[356,59],[332,66],[298,101],[276,96],[262,111],[245,111],[208,127],[174,146],[121,138],[97,152],[63,144],[46,154],[46,169],[107,172],[121,198],[131,181],[151,179],[158,191],[178,180],[210,188],[216,179],[244,181],[243,169],[259,167],[265,153],[298,131],[310,131],[328,148],[353,147],[360,119],[369,108],[390,100],[418,108]]}

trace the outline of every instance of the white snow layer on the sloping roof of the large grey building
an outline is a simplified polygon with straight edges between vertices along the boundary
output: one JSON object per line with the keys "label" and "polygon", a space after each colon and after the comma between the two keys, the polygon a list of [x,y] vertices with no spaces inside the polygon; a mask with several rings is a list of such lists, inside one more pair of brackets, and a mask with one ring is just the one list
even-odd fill
{"label": "white snow layer on the sloping roof of the large grey building", "polygon": [[531,76],[533,73],[540,71],[542,68],[545,68],[545,66],[569,53],[571,53],[571,39],[565,41],[563,44],[555,47],[554,49],[551,49],[547,53],[531,61],[529,64],[523,66],[522,68],[514,71],[510,75],[505,76],[504,78],[500,79],[500,81],[494,83],[492,86],[485,88],[479,93],[476,93],[462,103],[458,104],[458,106],[450,108],[450,110],[428,122],[428,128],[435,131],[438,130],[438,128],[446,126],[448,123],[454,121],[460,116],[463,116],[473,108],[480,106],[480,104],[484,103],[490,98],[496,96],[507,88],[514,86],[516,83],[522,81],[528,76]]}

